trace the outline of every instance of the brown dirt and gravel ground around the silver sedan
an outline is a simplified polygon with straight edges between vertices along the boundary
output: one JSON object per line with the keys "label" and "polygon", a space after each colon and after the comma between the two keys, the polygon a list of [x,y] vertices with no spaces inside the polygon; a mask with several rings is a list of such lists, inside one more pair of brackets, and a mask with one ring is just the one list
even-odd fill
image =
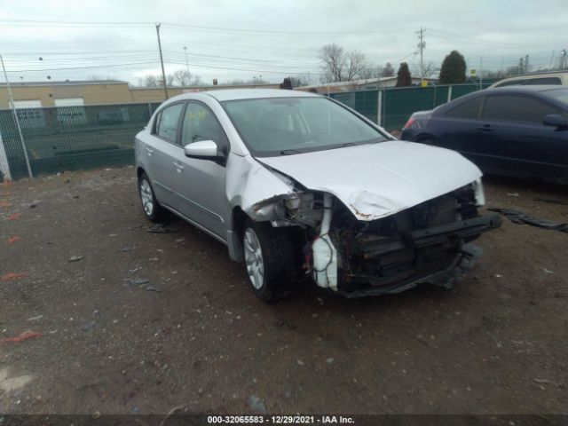
{"label": "brown dirt and gravel ground around the silver sedan", "polygon": [[[568,412],[568,234],[503,219],[452,291],[268,305],[191,225],[149,233],[133,175],[0,186],[0,339],[41,333],[0,343],[0,412]],[[485,185],[489,206],[568,221],[534,201],[565,188]]]}

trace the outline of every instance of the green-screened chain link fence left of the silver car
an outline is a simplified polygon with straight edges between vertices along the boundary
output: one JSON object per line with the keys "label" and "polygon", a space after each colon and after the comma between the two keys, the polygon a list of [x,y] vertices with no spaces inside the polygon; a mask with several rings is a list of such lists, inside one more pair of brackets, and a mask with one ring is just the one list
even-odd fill
{"label": "green-screened chain link fence left of the silver car", "polygon": [[[134,137],[159,105],[18,108],[33,174],[132,164]],[[0,110],[0,173],[28,176],[12,110]]]}

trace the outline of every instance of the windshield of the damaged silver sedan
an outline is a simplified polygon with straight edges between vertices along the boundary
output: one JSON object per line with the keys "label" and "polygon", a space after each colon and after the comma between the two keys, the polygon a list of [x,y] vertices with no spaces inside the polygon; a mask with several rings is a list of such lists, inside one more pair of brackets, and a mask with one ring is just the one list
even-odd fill
{"label": "windshield of the damaged silver sedan", "polygon": [[269,98],[223,102],[248,150],[256,156],[382,142],[385,136],[326,98]]}

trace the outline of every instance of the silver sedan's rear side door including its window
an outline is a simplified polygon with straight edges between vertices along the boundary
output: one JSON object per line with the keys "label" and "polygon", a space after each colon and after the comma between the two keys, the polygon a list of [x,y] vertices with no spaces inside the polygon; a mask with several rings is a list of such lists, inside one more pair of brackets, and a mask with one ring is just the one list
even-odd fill
{"label": "silver sedan's rear side door including its window", "polygon": [[156,198],[162,205],[173,208],[176,204],[174,186],[177,179],[174,163],[180,151],[177,138],[183,108],[183,102],[163,108],[156,116],[152,134],[142,148]]}

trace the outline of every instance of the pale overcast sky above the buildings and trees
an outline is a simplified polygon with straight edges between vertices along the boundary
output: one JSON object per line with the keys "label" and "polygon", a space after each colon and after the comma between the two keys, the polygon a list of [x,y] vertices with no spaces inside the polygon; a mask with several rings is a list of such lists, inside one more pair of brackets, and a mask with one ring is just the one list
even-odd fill
{"label": "pale overcast sky above the buildings and trees", "polygon": [[415,33],[423,27],[426,62],[439,66],[458,50],[469,68],[479,69],[483,57],[484,69],[499,70],[528,54],[536,69],[568,48],[567,6],[566,0],[0,0],[0,54],[13,82],[99,75],[136,83],[160,73],[154,22],[162,22],[166,73],[185,69],[185,46],[190,71],[204,83],[260,75],[280,82],[294,73],[311,73],[318,83],[319,49],[327,43],[362,51],[375,65],[398,68],[406,60],[414,71]]}

